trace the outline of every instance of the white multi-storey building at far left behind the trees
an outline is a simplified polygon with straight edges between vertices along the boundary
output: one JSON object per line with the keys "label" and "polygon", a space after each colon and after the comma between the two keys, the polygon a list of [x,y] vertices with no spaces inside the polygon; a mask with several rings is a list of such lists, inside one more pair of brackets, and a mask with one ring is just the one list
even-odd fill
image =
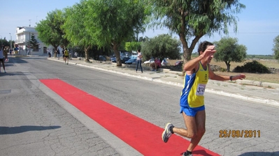
{"label": "white multi-storey building at far left behind the trees", "polygon": [[[27,45],[27,42],[31,40],[31,36],[34,35],[38,41],[38,49],[30,49]],[[48,55],[48,49],[50,53],[53,54],[54,48],[52,46],[46,46],[41,40],[38,39],[38,32],[35,27],[31,26],[17,26],[15,33],[15,47],[18,47],[19,54],[21,55]]]}

